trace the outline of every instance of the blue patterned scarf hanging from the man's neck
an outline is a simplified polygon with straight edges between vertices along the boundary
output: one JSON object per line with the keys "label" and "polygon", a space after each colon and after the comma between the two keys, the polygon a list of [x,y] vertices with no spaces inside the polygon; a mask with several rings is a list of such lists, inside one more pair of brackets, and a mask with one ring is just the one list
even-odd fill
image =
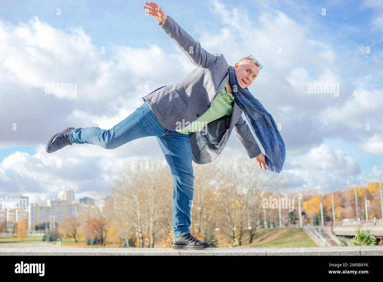
{"label": "blue patterned scarf hanging from the man's neck", "polygon": [[262,104],[255,99],[249,89],[239,86],[234,67],[229,66],[229,83],[235,98],[245,113],[246,119],[249,121],[255,136],[262,143],[265,149],[265,163],[267,168],[272,172],[280,172],[285,163],[285,143],[273,117],[267,112]]}

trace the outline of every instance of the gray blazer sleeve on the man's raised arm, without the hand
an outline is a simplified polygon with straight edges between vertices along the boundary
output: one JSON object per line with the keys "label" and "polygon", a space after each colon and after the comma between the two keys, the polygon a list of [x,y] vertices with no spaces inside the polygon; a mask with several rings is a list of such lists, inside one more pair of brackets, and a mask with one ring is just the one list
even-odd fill
{"label": "gray blazer sleeve on the man's raised arm, without the hand", "polygon": [[191,63],[200,68],[208,68],[216,63],[217,56],[222,54],[211,54],[203,49],[199,42],[195,41],[181,26],[170,16],[165,23],[158,24],[162,30],[177,44],[183,53],[190,59]]}

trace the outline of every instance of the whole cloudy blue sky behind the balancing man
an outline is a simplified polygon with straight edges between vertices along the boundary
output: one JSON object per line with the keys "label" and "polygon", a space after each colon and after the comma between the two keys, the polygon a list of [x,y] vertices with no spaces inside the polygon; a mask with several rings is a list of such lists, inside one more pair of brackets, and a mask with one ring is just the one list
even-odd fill
{"label": "whole cloudy blue sky behind the balancing man", "polygon": [[[45,151],[66,127],[113,127],[141,97],[195,68],[144,14],[144,1],[0,2],[0,198],[44,204],[63,189],[76,200],[97,198],[128,160],[164,158],[154,137],[113,150],[74,144]],[[382,1],[156,3],[229,65],[250,54],[262,63],[249,90],[281,125],[286,161],[279,175],[291,179],[289,189],[327,193],[379,180]],[[46,93],[52,81],[75,83],[76,95]],[[338,91],[310,93],[314,82]],[[219,158],[230,148],[245,154],[235,134]]]}

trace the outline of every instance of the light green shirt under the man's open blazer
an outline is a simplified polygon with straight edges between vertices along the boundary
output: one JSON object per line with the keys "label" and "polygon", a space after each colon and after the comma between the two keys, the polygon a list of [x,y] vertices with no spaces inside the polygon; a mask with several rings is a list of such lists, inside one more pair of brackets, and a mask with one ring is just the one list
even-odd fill
{"label": "light green shirt under the man's open blazer", "polygon": [[234,95],[226,91],[225,86],[222,91],[219,92],[219,95],[214,98],[211,107],[203,115],[183,129],[177,129],[175,131],[182,134],[189,134],[189,132],[195,132],[197,130],[200,131],[209,122],[219,119],[224,115],[231,115],[233,112]]}

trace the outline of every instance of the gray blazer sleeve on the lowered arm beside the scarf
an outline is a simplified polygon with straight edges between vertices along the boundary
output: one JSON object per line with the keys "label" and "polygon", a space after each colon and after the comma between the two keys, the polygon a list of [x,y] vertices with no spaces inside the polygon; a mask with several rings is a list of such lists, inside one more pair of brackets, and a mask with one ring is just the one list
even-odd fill
{"label": "gray blazer sleeve on the lowered arm beside the scarf", "polygon": [[244,120],[242,116],[234,125],[233,129],[239,141],[241,141],[242,146],[245,148],[249,158],[255,158],[260,153],[262,153],[261,149],[258,146],[257,141],[255,140],[253,134],[250,131],[249,125],[246,124],[246,120]]}

